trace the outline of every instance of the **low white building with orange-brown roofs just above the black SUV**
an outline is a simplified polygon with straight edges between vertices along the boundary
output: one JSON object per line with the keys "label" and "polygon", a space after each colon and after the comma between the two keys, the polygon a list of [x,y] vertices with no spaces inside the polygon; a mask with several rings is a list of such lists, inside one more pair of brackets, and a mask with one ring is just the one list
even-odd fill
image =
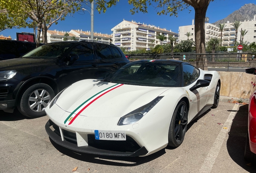
{"label": "low white building with orange-brown roofs just above the black SUV", "polygon": [[[56,42],[56,41],[63,41],[65,37],[64,34],[66,31],[59,31],[59,30],[47,30],[47,42]],[[76,38],[76,40],[91,40],[91,32],[89,31],[82,31],[82,30],[71,30],[68,32],[68,40],[72,40],[72,36]],[[93,39],[99,40],[103,42],[111,42],[112,36],[110,34],[101,34],[101,32],[93,33]]]}

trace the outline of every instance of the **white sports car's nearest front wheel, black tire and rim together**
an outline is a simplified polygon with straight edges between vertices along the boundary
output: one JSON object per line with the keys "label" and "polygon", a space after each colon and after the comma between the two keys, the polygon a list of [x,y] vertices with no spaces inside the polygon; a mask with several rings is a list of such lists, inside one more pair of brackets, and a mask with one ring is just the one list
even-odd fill
{"label": "white sports car's nearest front wheel, black tire and rim together", "polygon": [[176,106],[168,133],[168,146],[179,147],[185,137],[188,126],[188,108],[186,102],[181,100]]}

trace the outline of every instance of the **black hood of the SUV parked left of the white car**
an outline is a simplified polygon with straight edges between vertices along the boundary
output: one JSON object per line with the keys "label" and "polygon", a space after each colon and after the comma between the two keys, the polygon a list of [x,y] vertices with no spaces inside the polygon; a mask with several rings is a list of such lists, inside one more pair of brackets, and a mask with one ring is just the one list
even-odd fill
{"label": "black hood of the SUV parked left of the white car", "polygon": [[23,68],[37,67],[54,63],[54,59],[38,58],[14,58],[0,61],[0,71],[19,70]]}

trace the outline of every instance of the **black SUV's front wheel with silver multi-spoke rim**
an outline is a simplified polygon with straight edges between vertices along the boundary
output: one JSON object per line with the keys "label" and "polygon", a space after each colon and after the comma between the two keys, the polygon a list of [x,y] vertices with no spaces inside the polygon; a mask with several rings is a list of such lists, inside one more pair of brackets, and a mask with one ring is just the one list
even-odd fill
{"label": "black SUV's front wheel with silver multi-spoke rim", "polygon": [[42,117],[46,115],[44,109],[54,96],[54,91],[49,85],[44,83],[33,84],[22,94],[18,109],[27,117]]}

